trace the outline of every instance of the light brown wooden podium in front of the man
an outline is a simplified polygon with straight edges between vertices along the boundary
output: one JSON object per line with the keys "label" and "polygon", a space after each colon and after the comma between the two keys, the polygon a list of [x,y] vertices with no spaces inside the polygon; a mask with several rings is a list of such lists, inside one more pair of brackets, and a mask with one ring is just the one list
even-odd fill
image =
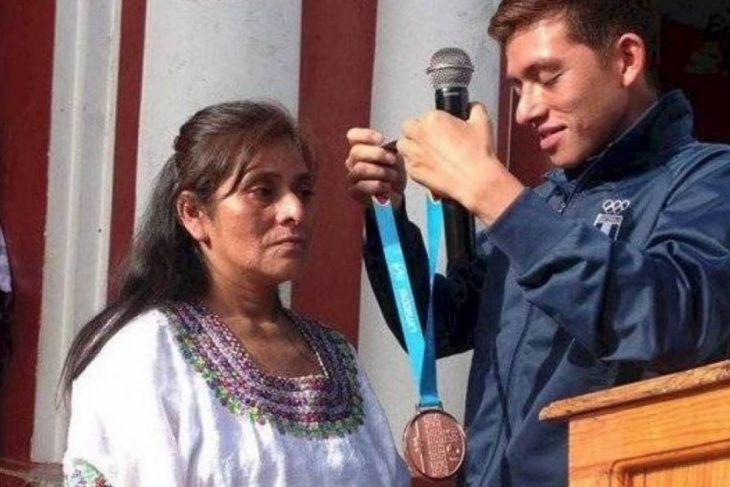
{"label": "light brown wooden podium in front of the man", "polygon": [[730,361],[558,401],[570,487],[730,486]]}

